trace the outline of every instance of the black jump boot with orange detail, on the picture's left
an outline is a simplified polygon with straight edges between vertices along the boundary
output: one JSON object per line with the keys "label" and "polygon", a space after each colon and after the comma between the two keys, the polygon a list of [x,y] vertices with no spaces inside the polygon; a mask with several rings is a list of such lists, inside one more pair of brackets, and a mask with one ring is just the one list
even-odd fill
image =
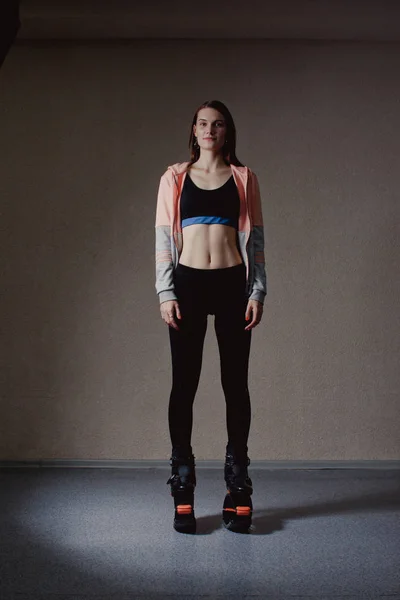
{"label": "black jump boot with orange detail, on the picture's left", "polygon": [[196,487],[195,462],[193,454],[171,456],[172,473],[167,484],[171,485],[174,498],[174,529],[180,533],[196,533],[194,516],[194,488]]}

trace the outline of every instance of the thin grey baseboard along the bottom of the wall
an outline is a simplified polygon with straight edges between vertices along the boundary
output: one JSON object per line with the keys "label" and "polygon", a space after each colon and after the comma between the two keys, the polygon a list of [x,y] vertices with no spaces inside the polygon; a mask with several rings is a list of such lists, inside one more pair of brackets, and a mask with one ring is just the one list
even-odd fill
{"label": "thin grey baseboard along the bottom of the wall", "polygon": [[[221,469],[222,460],[197,460],[199,469]],[[0,460],[0,469],[7,468],[78,468],[78,469],[169,469],[169,458],[164,460],[118,459],[49,459]],[[251,469],[400,469],[400,460],[252,460]]]}

